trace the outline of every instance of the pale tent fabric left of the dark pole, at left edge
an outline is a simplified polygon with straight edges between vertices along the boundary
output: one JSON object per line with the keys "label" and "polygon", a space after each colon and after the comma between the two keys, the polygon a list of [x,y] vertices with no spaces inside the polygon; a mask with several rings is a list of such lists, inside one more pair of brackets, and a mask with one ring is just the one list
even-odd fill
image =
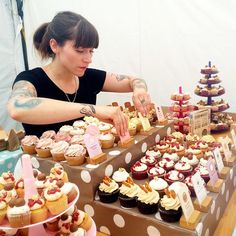
{"label": "pale tent fabric left of the dark pole, at left edge", "polygon": [[16,2],[0,1],[0,126],[9,131],[16,130],[21,125],[10,119],[6,110],[6,103],[11,93],[12,83],[16,75],[24,70],[21,47],[21,21],[17,14]]}

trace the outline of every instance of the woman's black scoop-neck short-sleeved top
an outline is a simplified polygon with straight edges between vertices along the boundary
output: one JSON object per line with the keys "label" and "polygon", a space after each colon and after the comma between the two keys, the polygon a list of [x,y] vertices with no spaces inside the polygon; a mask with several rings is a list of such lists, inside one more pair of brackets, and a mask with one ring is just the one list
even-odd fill
{"label": "woman's black scoop-neck short-sleeved top", "polygon": [[[95,105],[97,94],[102,90],[105,78],[105,71],[88,68],[85,71],[85,74],[79,78],[79,89],[77,90],[75,102]],[[42,68],[38,67],[29,71],[21,72],[17,75],[14,84],[20,80],[26,80],[32,83],[37,91],[38,97],[68,102],[65,93],[49,79]],[[70,100],[73,101],[75,93],[67,95]],[[25,129],[26,135],[37,135],[40,137],[44,131],[55,130],[57,132],[61,126],[72,125],[74,121],[75,120],[69,120],[48,125],[31,125],[25,123],[22,123],[22,125]]]}

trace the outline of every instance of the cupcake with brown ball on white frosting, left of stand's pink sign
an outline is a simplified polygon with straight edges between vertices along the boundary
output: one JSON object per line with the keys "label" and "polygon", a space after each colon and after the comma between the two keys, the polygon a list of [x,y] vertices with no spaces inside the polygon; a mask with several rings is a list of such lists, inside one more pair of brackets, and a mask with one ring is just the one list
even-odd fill
{"label": "cupcake with brown ball on white frosting, left of stand's pink sign", "polygon": [[12,228],[20,228],[30,224],[31,212],[23,198],[14,198],[9,202],[7,218]]}

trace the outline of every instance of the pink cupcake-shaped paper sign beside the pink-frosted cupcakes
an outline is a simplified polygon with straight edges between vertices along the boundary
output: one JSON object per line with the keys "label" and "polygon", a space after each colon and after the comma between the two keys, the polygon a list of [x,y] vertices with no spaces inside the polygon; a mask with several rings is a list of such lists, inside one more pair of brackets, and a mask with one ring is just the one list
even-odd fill
{"label": "pink cupcake-shaped paper sign beside the pink-frosted cupcakes", "polygon": [[86,134],[84,135],[84,143],[88,150],[90,158],[93,158],[102,153],[101,146],[98,140],[99,130],[95,125],[89,125]]}

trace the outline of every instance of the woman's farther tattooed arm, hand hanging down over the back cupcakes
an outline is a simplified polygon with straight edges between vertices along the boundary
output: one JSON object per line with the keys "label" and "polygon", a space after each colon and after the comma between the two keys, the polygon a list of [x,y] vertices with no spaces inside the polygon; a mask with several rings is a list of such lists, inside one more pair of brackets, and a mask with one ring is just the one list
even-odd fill
{"label": "woman's farther tattooed arm, hand hanging down over the back cupcakes", "polygon": [[151,100],[145,80],[127,75],[107,73],[103,91],[132,92],[133,102],[138,111],[147,115],[151,109]]}

